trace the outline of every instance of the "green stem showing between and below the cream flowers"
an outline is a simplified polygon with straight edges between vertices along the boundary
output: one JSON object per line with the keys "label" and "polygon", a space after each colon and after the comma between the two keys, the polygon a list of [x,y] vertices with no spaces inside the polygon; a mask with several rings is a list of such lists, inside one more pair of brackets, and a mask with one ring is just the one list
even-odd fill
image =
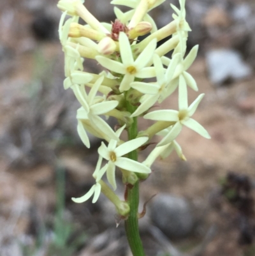
{"label": "green stem showing between and below the cream flowers", "polygon": [[[127,109],[130,113],[133,113],[136,109],[128,101],[126,102]],[[137,118],[134,117],[134,122],[128,128],[128,139],[135,139],[138,134],[137,129]],[[136,150],[131,151],[128,154],[128,158],[137,161],[138,153]],[[139,181],[137,181],[133,186],[127,186],[127,202],[130,207],[130,212],[128,219],[125,220],[126,236],[128,237],[128,243],[131,248],[133,256],[145,256],[142,241],[139,234],[138,227],[138,205],[139,205]]]}

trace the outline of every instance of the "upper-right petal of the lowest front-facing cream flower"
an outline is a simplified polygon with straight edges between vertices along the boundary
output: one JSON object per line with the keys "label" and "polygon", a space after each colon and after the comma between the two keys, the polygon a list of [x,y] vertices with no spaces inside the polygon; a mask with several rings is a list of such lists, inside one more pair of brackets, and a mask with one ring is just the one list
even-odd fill
{"label": "upper-right petal of the lowest front-facing cream flower", "polygon": [[116,147],[115,154],[117,157],[124,156],[124,154],[128,154],[129,152],[138,149],[138,147],[145,144],[145,142],[147,142],[148,139],[148,137],[140,137],[124,142],[119,147]]}

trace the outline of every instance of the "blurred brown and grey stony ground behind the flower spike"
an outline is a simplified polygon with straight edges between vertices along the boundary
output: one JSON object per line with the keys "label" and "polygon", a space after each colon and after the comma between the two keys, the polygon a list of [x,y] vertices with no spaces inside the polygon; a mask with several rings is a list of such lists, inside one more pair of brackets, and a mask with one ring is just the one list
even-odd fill
{"label": "blurred brown and grey stony ground behind the flower spike", "polygon": [[[151,11],[158,27],[172,20],[170,3],[179,6],[166,0]],[[129,256],[123,223],[115,227],[103,195],[96,204],[71,201],[94,184],[100,142],[88,151],[77,135],[78,103],[62,86],[56,4],[0,2],[0,256]],[[115,20],[110,0],[85,4],[99,20]],[[200,45],[189,72],[205,93],[194,119],[212,139],[184,128],[177,141],[187,162],[173,153],[154,164],[141,184],[141,211],[157,194],[140,221],[142,240],[148,256],[254,256],[255,3],[186,5],[188,50]],[[175,108],[177,96],[163,107]],[[189,91],[190,102],[196,96]]]}

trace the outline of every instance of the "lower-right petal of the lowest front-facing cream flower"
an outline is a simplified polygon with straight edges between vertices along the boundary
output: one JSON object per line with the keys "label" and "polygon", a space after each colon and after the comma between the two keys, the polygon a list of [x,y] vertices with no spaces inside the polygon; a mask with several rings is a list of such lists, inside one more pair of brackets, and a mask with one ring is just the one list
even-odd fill
{"label": "lower-right petal of the lowest front-facing cream flower", "polygon": [[136,162],[126,157],[119,157],[115,162],[115,165],[124,170],[130,170],[131,172],[139,172],[149,174],[151,172],[150,168],[142,163]]}

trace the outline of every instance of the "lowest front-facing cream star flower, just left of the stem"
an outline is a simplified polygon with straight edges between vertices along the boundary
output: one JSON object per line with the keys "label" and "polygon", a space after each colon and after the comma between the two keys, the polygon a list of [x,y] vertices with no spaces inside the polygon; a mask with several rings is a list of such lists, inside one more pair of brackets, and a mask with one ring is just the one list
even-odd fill
{"label": "lowest front-facing cream star flower, just left of the stem", "polygon": [[[117,135],[120,136],[120,133],[124,129],[117,131]],[[142,163],[136,162],[129,158],[124,157],[125,154],[138,149],[145,142],[147,142],[148,137],[140,137],[137,139],[129,140],[117,146],[118,140],[110,140],[108,147],[105,143],[102,142],[101,146],[98,148],[98,153],[108,160],[108,167],[106,170],[106,176],[109,183],[112,185],[113,189],[117,188],[115,181],[115,167],[119,167],[124,170],[129,170],[131,172],[140,172],[140,173],[150,173],[150,168],[143,165]]]}

